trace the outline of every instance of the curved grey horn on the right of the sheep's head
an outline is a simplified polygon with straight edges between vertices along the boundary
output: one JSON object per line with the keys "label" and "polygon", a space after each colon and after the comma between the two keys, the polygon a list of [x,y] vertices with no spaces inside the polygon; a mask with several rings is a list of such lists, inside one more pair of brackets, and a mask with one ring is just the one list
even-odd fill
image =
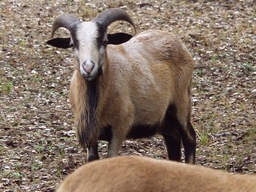
{"label": "curved grey horn on the right of the sheep's head", "polygon": [[129,22],[134,27],[135,34],[136,34],[136,27],[133,19],[130,18],[130,15],[127,14],[126,11],[120,8],[110,8],[110,9],[104,10],[101,14],[98,15],[98,17],[94,18],[94,21],[100,23],[100,25],[105,28],[107,28],[107,26],[110,26],[112,22],[116,22],[116,21]]}

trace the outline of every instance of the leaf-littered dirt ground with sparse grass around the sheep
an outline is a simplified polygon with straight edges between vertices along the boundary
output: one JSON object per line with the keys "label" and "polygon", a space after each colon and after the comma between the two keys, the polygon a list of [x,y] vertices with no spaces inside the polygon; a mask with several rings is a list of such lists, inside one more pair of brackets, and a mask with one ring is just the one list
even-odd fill
{"label": "leaf-littered dirt ground with sparse grass around the sheep", "polygon": [[[192,122],[197,163],[256,174],[256,2],[0,1],[0,190],[54,191],[86,152],[68,102],[72,50],[46,46],[58,14],[90,20],[121,7],[140,30],[177,34],[197,63]],[[121,27],[120,27],[121,26]],[[126,24],[110,30],[130,30]],[[66,33],[66,32],[63,32]],[[106,158],[106,142],[99,143]],[[166,158],[162,137],[127,140],[120,154]]]}

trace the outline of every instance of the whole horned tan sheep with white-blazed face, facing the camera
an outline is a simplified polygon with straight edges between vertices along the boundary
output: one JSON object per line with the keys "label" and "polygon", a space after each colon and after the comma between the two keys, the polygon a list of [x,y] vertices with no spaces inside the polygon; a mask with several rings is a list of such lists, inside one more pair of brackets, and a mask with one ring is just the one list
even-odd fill
{"label": "whole horned tan sheep with white-blazed face, facing the camera", "polygon": [[[174,34],[146,30],[135,36],[108,34],[116,21],[129,22],[119,8],[103,11],[90,22],[61,14],[54,20],[46,43],[74,50],[70,105],[80,145],[88,162],[99,158],[98,140],[109,142],[107,157],[118,155],[126,138],[162,134],[168,158],[194,163],[196,134],[190,122],[190,86],[194,60]],[[58,28],[69,38],[53,38]]]}

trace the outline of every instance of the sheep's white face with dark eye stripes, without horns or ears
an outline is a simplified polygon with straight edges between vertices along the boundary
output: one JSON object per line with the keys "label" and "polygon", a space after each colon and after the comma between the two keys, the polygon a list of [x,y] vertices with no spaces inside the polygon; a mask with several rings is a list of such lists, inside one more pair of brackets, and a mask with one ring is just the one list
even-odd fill
{"label": "sheep's white face with dark eye stripes, without horns or ears", "polygon": [[106,31],[100,30],[96,22],[82,22],[71,33],[70,46],[74,48],[78,69],[88,81],[104,70],[107,44]]}

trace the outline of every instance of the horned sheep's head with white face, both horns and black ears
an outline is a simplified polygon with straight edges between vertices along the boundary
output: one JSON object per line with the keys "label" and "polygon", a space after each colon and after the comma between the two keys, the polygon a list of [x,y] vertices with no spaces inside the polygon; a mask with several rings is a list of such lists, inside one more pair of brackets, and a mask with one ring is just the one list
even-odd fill
{"label": "horned sheep's head with white face, both horns and black ears", "polygon": [[[130,16],[118,8],[105,10],[90,22],[81,22],[71,14],[61,14],[54,20],[52,39],[46,43],[63,49],[72,47],[78,70],[90,81],[104,69],[106,46],[121,44],[132,38],[132,35],[124,33],[107,34],[107,27],[116,21],[130,22],[136,32]],[[60,27],[70,30],[70,38],[53,38],[54,32]]]}

